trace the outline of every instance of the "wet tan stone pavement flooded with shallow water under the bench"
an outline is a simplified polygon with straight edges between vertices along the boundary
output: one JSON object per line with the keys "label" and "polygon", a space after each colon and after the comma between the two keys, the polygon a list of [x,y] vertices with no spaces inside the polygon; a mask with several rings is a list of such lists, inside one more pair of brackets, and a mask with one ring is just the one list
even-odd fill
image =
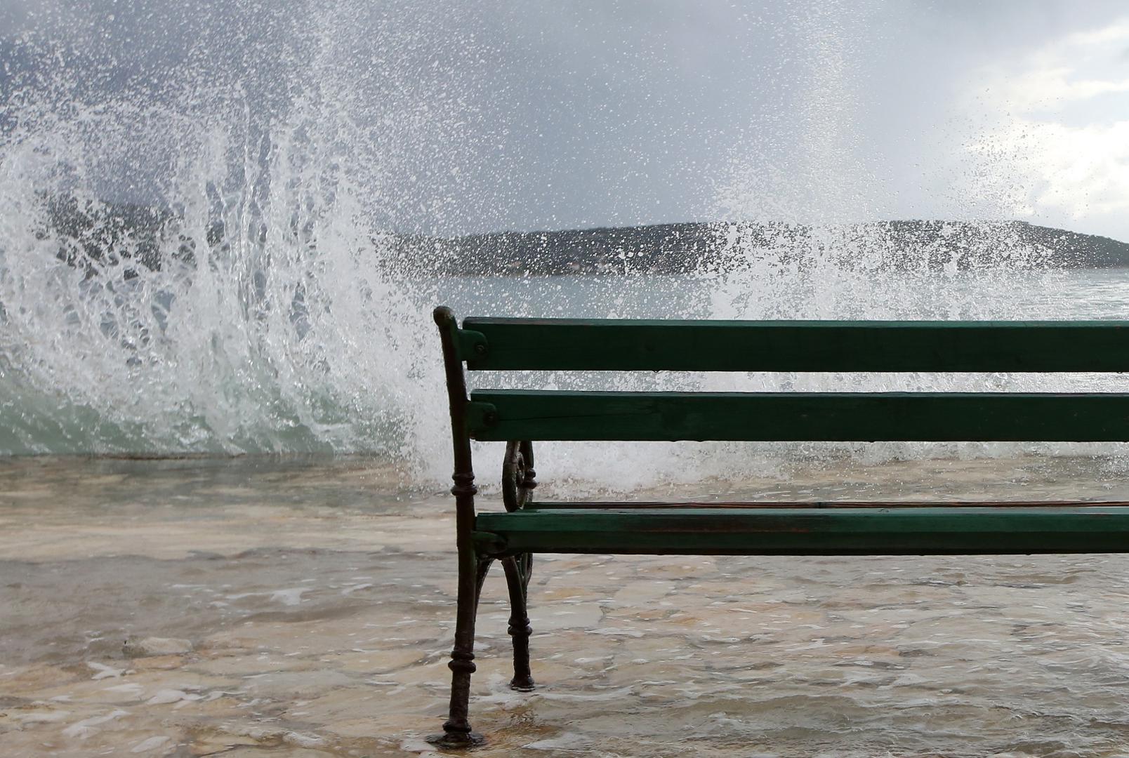
{"label": "wet tan stone pavement flooded with shallow water under the bench", "polygon": [[[1129,500],[1124,478],[823,462],[689,494]],[[0,755],[429,752],[453,548],[449,497],[364,459],[0,461]],[[537,689],[507,686],[496,567],[474,755],[1129,755],[1127,579],[1109,555],[536,556]]]}

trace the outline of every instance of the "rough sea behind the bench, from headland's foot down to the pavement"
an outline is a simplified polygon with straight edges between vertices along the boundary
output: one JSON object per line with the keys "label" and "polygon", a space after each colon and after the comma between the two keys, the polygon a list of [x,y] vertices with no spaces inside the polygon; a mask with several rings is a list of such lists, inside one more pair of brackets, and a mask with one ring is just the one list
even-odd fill
{"label": "rough sea behind the bench, from headland's foot down to the pavement", "polygon": [[[268,250],[271,255],[275,252]],[[268,252],[256,250],[265,256]],[[1129,272],[798,266],[750,253],[698,275],[390,274],[378,249],[208,266],[32,261],[0,271],[0,455],[362,455],[406,484],[449,471],[438,335],[460,317],[1118,319]],[[281,256],[279,256],[281,257]],[[865,264],[865,262],[863,262]],[[821,265],[822,264],[822,265]],[[231,277],[217,272],[228,266]],[[237,268],[238,271],[230,271]],[[129,273],[132,272],[132,273]],[[475,373],[478,387],[1124,391],[1123,374]],[[557,443],[542,468],[584,491],[755,475],[800,456],[861,460],[1119,456],[1118,444]],[[483,450],[493,450],[485,444]],[[495,453],[490,453],[495,455]]]}

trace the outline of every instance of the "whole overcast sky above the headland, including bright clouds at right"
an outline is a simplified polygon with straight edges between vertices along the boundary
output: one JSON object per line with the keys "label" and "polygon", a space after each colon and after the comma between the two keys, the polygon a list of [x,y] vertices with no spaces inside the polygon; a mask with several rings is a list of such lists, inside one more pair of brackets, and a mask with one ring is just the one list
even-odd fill
{"label": "whole overcast sky above the headland, including bright clouds at right", "polygon": [[355,165],[401,230],[1017,218],[1129,240],[1123,1],[0,0],[0,160],[69,124],[89,180],[134,200],[175,199],[178,156],[242,120]]}

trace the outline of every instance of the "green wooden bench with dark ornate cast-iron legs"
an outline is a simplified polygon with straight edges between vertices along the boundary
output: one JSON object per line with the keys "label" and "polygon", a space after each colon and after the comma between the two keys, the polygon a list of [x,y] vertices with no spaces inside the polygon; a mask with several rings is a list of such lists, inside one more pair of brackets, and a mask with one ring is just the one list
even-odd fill
{"label": "green wooden bench with dark ornate cast-iron legs", "polygon": [[[450,715],[467,721],[487,571],[509,588],[514,680],[533,687],[534,553],[930,555],[1129,552],[1129,503],[539,502],[550,440],[1129,441],[1129,394],[644,393],[478,389],[470,371],[981,371],[1129,369],[1129,321],[675,321],[467,318],[443,340],[455,450],[458,609]],[[507,442],[505,510],[475,513],[471,440]]]}

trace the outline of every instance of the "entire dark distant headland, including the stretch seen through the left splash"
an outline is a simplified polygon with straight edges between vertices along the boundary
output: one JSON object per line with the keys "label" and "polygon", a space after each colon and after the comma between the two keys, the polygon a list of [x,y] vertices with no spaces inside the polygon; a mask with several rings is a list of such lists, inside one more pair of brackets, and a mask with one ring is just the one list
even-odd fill
{"label": "entire dark distant headland, including the stretch seen through the left splash", "polygon": [[[44,237],[58,255],[104,265],[160,268],[191,262],[196,246],[227,246],[220,221],[205,239],[189,237],[168,209],[51,199]],[[245,219],[242,220],[244,223]],[[255,224],[260,241],[264,223]],[[254,228],[254,227],[253,227]],[[246,233],[247,227],[243,227]],[[308,233],[297,230],[291,233]],[[316,231],[304,244],[316,247]],[[562,231],[504,231],[463,237],[380,233],[374,246],[406,274],[685,274],[767,261],[803,271],[821,264],[867,271],[969,271],[1129,267],[1129,244],[1025,221],[877,221],[812,227],[780,222],[686,222]]]}

